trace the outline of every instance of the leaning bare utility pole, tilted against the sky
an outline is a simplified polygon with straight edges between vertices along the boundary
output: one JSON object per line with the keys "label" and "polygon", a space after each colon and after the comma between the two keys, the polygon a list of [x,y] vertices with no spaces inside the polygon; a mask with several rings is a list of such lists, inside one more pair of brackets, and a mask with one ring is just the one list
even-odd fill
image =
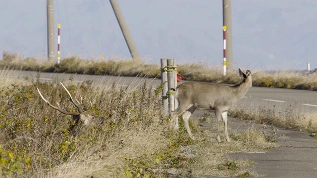
{"label": "leaning bare utility pole, tilted against the sky", "polygon": [[133,61],[137,62],[137,61],[141,61],[141,57],[139,55],[139,52],[137,50],[137,47],[135,46],[131,33],[129,31],[129,28],[123,18],[122,12],[120,10],[119,4],[117,2],[117,0],[110,0],[111,6],[113,8],[114,14],[118,20],[119,26],[121,28],[121,31],[123,33],[125,42],[128,45],[129,51],[131,53],[132,59]]}

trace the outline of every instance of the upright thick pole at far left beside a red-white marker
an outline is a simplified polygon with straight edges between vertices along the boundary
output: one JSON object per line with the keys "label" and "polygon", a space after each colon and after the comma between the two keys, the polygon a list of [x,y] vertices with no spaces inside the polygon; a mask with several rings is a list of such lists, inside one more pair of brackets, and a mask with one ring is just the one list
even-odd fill
{"label": "upright thick pole at far left beside a red-white marker", "polygon": [[55,60],[54,45],[54,1],[47,0],[47,25],[48,25],[48,60]]}

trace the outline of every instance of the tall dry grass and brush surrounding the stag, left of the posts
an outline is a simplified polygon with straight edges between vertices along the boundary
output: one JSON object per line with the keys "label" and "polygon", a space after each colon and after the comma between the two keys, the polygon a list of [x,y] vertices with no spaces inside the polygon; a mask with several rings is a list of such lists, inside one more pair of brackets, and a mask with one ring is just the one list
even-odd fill
{"label": "tall dry grass and brush surrounding the stag, left of the posts", "polygon": [[[62,97],[64,91],[54,83],[35,81],[32,85],[4,87],[0,92],[2,176],[151,175],[148,170],[135,172],[134,169],[153,162],[153,154],[165,152],[171,142],[168,122],[161,115],[160,95],[146,84],[141,89],[125,89],[115,84],[98,89],[90,82],[68,86],[77,97],[84,96],[86,105],[89,98],[95,98],[92,111],[105,120],[103,125],[76,137],[68,136],[67,128],[73,124],[71,117],[45,105],[36,87],[48,95],[52,103],[58,101],[66,110],[73,110]],[[177,147],[170,152],[177,154]],[[130,165],[125,158],[145,159],[139,161],[140,165]],[[158,165],[152,163],[153,167]]]}

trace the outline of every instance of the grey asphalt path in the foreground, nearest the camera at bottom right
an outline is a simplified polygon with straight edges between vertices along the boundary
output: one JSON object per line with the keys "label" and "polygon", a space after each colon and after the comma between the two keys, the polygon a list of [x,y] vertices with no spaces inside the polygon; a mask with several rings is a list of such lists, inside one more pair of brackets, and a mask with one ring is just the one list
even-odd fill
{"label": "grey asphalt path in the foreground, nearest the camera at bottom right", "polygon": [[[229,121],[229,132],[245,132],[248,128],[253,127],[263,128],[260,124],[249,123],[232,117],[229,118]],[[210,123],[204,123],[202,128],[206,127],[207,129],[210,125]],[[264,178],[316,178],[317,139],[305,132],[276,127],[275,130],[278,142],[272,143],[274,148],[259,152],[228,154],[228,156],[232,159],[254,161],[255,166],[243,167],[251,175],[256,173],[257,176]],[[214,140],[216,139],[214,138]],[[205,178],[223,177],[206,175]]]}

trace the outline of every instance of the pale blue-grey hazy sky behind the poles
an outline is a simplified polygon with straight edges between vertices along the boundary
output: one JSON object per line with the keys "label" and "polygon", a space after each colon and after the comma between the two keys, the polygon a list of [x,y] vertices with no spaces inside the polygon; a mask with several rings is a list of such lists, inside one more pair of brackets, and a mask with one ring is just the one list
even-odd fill
{"label": "pale blue-grey hazy sky behind the poles", "polygon": [[[143,61],[222,66],[222,0],[118,3]],[[317,67],[317,0],[231,0],[231,10],[234,69]],[[46,21],[46,0],[0,0],[0,51],[47,58]],[[131,59],[109,0],[54,0],[55,50],[58,23],[61,59]]]}

